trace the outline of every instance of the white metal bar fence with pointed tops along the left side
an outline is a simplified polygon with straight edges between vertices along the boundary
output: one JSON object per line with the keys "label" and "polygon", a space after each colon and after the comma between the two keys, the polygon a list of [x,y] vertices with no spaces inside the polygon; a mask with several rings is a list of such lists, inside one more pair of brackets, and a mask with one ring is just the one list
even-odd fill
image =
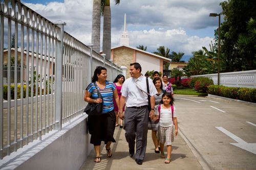
{"label": "white metal bar fence with pointed tops along the left side", "polygon": [[[66,33],[64,26],[17,1],[1,1],[0,159],[53,129],[61,130],[63,123],[81,114],[84,89],[96,66],[108,69],[109,80],[121,74],[117,65]],[[18,73],[18,61],[20,68],[32,69]]]}

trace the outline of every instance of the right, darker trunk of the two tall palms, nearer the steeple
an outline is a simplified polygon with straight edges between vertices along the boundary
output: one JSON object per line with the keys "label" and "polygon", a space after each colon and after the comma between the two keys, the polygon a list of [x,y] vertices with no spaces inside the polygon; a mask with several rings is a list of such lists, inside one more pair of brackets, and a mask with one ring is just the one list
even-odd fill
{"label": "right, darker trunk of the two tall palms, nearer the steeple", "polygon": [[[115,0],[116,5],[120,4],[120,0]],[[111,57],[111,10],[110,0],[102,0],[102,15],[103,15],[103,41],[102,52],[106,55],[106,59]]]}

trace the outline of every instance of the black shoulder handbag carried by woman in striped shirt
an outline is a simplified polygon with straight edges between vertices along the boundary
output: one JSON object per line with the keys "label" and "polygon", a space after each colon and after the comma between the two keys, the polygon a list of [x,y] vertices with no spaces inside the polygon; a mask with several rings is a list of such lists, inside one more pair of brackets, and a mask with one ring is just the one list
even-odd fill
{"label": "black shoulder handbag carried by woman in striped shirt", "polygon": [[[102,99],[102,95],[100,94],[100,92],[97,88],[97,85],[95,83],[94,83],[94,86],[97,89],[98,98]],[[102,107],[103,107],[103,102],[101,102],[101,103],[88,103],[86,108],[84,108],[83,112],[86,112],[86,114],[88,114],[88,115],[100,115],[100,114],[102,114]]]}

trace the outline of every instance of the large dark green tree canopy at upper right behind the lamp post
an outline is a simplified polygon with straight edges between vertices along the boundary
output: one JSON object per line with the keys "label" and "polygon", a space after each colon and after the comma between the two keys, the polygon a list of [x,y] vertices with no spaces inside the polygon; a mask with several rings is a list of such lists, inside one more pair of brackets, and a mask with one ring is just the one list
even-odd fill
{"label": "large dark green tree canopy at upper right behind the lamp post", "polygon": [[[220,5],[224,15],[220,27],[224,71],[256,69],[256,1],[228,0]],[[216,45],[218,38],[216,31]]]}

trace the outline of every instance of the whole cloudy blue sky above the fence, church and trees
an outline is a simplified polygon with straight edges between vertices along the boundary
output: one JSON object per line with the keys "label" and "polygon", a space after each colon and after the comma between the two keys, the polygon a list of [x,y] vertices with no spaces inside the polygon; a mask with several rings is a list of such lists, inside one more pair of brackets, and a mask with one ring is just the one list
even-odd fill
{"label": "whole cloudy blue sky above the fence, church and trees", "polygon": [[[170,52],[185,55],[202,46],[209,48],[218,28],[218,17],[209,17],[209,13],[222,11],[221,0],[121,0],[119,5],[110,1],[111,46],[120,44],[126,13],[130,46],[144,45],[148,52],[155,52],[162,45]],[[22,3],[50,21],[65,21],[67,33],[84,44],[91,43],[93,0],[24,0]]]}

